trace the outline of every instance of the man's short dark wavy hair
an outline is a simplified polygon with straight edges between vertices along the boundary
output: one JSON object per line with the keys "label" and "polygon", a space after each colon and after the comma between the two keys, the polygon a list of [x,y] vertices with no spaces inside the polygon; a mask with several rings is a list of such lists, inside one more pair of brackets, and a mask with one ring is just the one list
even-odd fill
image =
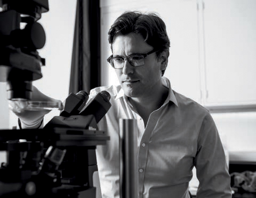
{"label": "man's short dark wavy hair", "polygon": [[[108,31],[111,49],[115,36],[127,35],[131,32],[140,33],[148,45],[158,49],[157,57],[162,51],[169,51],[170,40],[167,36],[166,25],[155,13],[125,12],[120,15]],[[162,75],[164,75],[164,70]]]}

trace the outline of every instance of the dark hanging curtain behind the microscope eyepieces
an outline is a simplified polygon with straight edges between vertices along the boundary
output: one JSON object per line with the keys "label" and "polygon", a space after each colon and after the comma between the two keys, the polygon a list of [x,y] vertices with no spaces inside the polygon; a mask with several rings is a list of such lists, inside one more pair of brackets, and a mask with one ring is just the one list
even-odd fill
{"label": "dark hanging curtain behind the microscope eyepieces", "polygon": [[99,0],[77,0],[69,93],[100,86]]}

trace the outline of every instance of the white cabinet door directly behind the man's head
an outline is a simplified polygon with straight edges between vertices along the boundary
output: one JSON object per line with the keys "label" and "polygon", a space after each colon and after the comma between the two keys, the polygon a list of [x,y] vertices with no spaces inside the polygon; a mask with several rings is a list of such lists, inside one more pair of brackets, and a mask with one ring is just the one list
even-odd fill
{"label": "white cabinet door directly behind the man's head", "polygon": [[196,101],[200,100],[201,87],[198,65],[198,27],[196,0],[159,1],[101,1],[101,66],[102,85],[118,83],[114,70],[107,65],[111,55],[107,32],[114,20],[124,11],[154,12],[166,24],[170,38],[170,57],[165,76],[172,88]]}

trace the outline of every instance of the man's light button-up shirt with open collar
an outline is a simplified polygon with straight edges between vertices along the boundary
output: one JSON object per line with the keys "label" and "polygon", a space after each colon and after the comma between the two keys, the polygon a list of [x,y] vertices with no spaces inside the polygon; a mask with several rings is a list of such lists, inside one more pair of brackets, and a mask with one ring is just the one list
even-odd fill
{"label": "man's light button-up shirt with open collar", "polygon": [[162,107],[153,111],[145,125],[121,86],[91,90],[110,93],[111,108],[98,123],[110,141],[97,147],[103,198],[119,197],[119,119],[137,119],[140,198],[188,198],[188,185],[197,169],[197,198],[230,198],[230,176],[217,127],[207,109],[171,89]]}

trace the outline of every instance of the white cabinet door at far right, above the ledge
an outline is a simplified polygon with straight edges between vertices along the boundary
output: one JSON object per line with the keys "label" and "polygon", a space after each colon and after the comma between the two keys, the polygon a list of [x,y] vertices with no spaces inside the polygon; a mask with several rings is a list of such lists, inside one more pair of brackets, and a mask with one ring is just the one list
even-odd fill
{"label": "white cabinet door at far right, above the ledge", "polygon": [[255,10],[255,0],[204,0],[206,105],[256,104]]}

